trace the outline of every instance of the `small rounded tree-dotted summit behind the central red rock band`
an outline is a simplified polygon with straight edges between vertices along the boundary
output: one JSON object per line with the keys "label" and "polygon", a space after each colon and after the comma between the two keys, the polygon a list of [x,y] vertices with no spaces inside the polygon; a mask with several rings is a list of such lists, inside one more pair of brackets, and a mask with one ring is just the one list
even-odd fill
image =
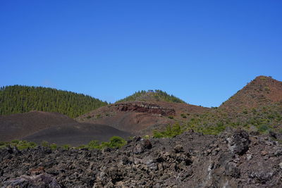
{"label": "small rounded tree-dotted summit behind the central red rock band", "polygon": [[125,97],[125,99],[116,101],[116,103],[124,101],[166,101],[172,103],[185,103],[185,101],[179,99],[178,97],[173,96],[172,94],[167,94],[166,92],[158,89],[138,91],[133,95]]}

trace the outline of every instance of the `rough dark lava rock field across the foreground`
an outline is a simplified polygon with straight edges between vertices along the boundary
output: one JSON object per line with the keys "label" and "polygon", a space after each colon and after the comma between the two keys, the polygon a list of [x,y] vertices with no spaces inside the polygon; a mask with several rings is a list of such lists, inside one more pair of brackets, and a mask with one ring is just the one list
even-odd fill
{"label": "rough dark lava rock field across the foreground", "polygon": [[276,134],[134,137],[121,149],[0,150],[0,187],[282,187]]}

